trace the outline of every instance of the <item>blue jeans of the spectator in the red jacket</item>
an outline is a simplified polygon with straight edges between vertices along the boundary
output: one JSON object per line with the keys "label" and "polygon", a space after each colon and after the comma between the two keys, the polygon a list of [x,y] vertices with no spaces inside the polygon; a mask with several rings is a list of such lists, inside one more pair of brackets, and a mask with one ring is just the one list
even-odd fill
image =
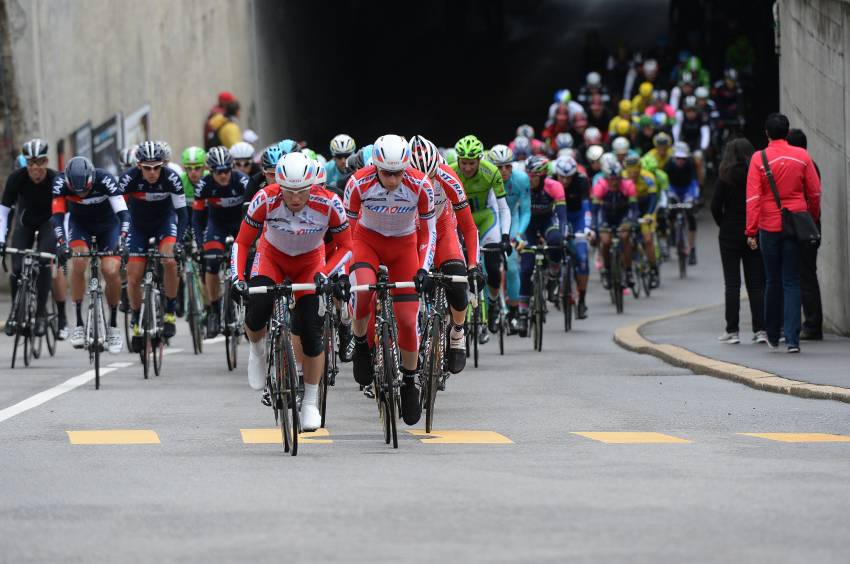
{"label": "blue jeans of the spectator in the red jacket", "polygon": [[[797,240],[782,233],[759,231],[764,258],[764,325],[771,345],[779,343],[779,327],[785,344],[800,346],[800,253]],[[783,306],[784,302],[784,306]]]}

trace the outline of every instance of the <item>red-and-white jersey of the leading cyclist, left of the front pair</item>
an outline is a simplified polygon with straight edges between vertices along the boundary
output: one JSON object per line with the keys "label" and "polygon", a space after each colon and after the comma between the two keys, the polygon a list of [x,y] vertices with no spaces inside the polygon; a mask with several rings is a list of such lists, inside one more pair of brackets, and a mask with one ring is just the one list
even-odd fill
{"label": "red-and-white jersey of the leading cyclist, left of the front pair", "polygon": [[281,188],[270,184],[257,192],[245,222],[262,228],[263,239],[289,256],[303,255],[324,247],[325,232],[340,232],[348,228],[345,208],[339,196],[318,186],[310,189],[310,200],[301,211],[293,212],[283,201]]}

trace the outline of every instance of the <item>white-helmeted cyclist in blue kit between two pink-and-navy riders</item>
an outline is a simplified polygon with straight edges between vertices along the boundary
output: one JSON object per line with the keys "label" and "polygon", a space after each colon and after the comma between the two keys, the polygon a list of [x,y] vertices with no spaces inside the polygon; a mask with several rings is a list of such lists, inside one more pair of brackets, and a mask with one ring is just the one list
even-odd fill
{"label": "white-helmeted cyclist in blue kit between two pink-and-navy riders", "polygon": [[555,161],[555,178],[564,187],[564,199],[567,205],[567,222],[576,235],[574,245],[576,255],[576,288],[578,289],[578,307],[576,316],[587,317],[588,249],[587,237],[590,230],[590,181],[578,170],[578,164],[572,157],[560,157]]}

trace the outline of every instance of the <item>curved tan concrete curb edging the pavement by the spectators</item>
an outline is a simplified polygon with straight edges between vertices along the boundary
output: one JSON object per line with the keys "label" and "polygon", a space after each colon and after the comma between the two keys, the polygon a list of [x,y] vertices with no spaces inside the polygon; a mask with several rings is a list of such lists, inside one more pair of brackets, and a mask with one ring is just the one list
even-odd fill
{"label": "curved tan concrete curb edging the pavement by the spectators", "polygon": [[789,394],[809,399],[830,399],[850,403],[850,389],[839,386],[826,386],[822,384],[810,384],[800,380],[791,380],[777,374],[732,364],[706,356],[698,355],[688,349],[663,343],[654,343],[640,334],[640,329],[649,323],[663,321],[674,317],[690,315],[705,309],[717,307],[716,305],[698,308],[680,309],[665,315],[650,317],[636,323],[631,323],[614,331],[614,342],[624,349],[640,353],[650,354],[658,357],[668,364],[687,368],[696,374],[706,374],[733,382],[746,384],[757,390],[775,392],[778,394]]}

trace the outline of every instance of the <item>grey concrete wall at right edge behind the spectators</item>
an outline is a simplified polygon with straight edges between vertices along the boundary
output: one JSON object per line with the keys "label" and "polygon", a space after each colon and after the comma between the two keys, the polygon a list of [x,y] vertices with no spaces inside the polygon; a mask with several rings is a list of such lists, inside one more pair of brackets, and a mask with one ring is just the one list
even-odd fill
{"label": "grey concrete wall at right edge behind the spectators", "polygon": [[850,334],[850,1],[779,0],[780,107],[820,167],[826,328]]}

